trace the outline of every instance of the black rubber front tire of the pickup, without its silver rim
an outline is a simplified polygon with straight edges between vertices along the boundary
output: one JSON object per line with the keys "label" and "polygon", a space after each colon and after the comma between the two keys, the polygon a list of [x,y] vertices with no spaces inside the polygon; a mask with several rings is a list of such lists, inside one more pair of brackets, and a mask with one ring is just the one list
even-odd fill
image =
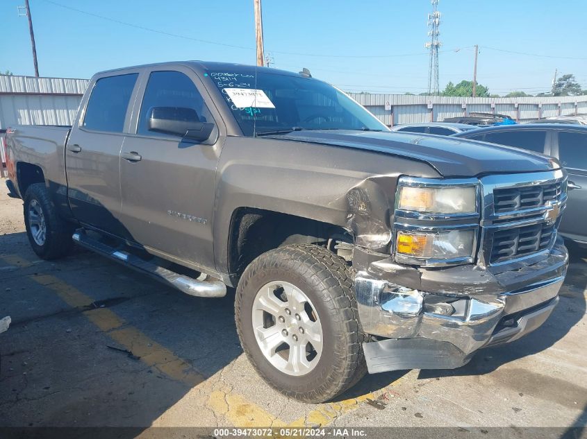
{"label": "black rubber front tire of the pickup, without its silver rim", "polygon": [[[354,273],[333,252],[309,244],[290,245],[257,257],[236,291],[235,317],[240,343],[259,375],[288,397],[325,402],[356,384],[366,372],[352,291]],[[288,375],[265,358],[254,334],[252,311],[261,287],[293,284],[311,300],[322,325],[322,355],[306,375]]]}

